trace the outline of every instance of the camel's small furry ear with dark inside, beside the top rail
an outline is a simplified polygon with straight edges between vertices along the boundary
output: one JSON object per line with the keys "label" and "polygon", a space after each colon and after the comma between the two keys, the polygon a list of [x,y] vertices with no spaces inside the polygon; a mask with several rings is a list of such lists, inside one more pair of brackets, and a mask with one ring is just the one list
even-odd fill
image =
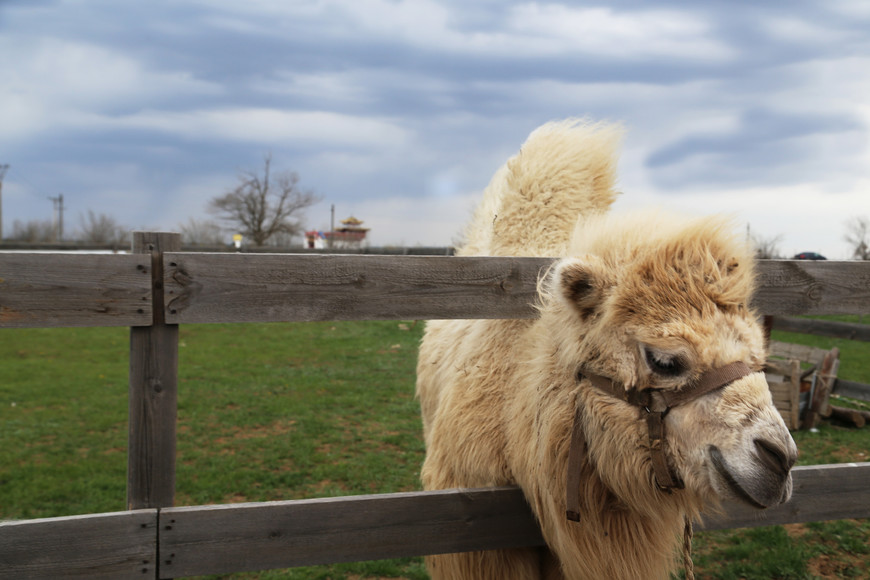
{"label": "camel's small furry ear with dark inside, beside the top rail", "polygon": [[556,294],[585,319],[598,310],[610,286],[610,275],[597,256],[566,258],[556,266],[553,284]]}

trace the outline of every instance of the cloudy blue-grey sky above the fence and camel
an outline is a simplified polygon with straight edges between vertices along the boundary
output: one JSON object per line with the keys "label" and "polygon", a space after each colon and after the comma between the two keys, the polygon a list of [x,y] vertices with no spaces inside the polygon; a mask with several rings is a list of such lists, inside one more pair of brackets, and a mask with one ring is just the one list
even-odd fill
{"label": "cloudy blue-grey sky above the fence and camel", "polygon": [[178,230],[271,153],[373,245],[458,238],[553,119],[623,123],[617,209],[733,213],[849,257],[870,217],[870,3],[0,0],[3,230]]}

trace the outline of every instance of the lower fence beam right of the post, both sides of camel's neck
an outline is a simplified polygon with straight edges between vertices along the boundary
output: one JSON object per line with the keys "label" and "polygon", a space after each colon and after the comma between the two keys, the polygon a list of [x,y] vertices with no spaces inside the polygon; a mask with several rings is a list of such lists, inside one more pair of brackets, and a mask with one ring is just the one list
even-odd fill
{"label": "lower fence beam right of the post, both sides of camel's neck", "polygon": [[[796,467],[788,503],[728,503],[699,529],[870,517],[870,463]],[[835,490],[832,492],[832,490]],[[161,574],[189,576],[540,546],[517,488],[445,490],[160,512]]]}

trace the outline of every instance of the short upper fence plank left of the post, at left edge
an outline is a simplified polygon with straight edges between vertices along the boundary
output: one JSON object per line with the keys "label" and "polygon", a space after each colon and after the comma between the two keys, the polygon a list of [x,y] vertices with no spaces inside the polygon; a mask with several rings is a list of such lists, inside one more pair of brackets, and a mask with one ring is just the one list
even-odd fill
{"label": "short upper fence plank left of the post, at left edge", "polygon": [[145,256],[0,252],[0,328],[150,324],[150,270]]}

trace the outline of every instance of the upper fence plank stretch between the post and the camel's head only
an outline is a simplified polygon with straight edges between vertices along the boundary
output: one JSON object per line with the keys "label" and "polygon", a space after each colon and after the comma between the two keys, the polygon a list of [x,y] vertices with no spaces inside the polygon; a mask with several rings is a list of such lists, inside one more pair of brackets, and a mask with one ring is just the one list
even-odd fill
{"label": "upper fence plank stretch between the post and the camel's head only", "polygon": [[546,258],[166,256],[166,320],[528,318]]}

